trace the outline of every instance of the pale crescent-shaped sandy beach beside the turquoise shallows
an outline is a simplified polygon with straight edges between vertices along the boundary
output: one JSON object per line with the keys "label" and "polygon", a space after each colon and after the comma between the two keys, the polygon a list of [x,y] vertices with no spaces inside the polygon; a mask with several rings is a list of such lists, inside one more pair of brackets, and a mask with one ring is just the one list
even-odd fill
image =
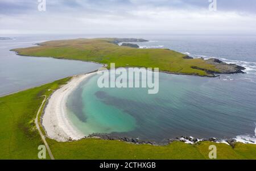
{"label": "pale crescent-shaped sandy beach beside the turquoise shallows", "polygon": [[85,137],[70,123],[67,116],[67,98],[69,94],[86,78],[94,73],[74,76],[68,84],[56,90],[49,98],[48,104],[42,116],[42,124],[46,134],[57,141],[79,140]]}

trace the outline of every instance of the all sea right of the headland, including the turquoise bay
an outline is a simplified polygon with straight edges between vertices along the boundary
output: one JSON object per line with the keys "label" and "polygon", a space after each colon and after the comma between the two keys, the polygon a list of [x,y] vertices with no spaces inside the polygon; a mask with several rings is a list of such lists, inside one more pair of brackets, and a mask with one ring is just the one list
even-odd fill
{"label": "all sea right of the headland, including the turquoise bay", "polygon": [[216,57],[246,67],[246,74],[207,78],[160,73],[159,93],[82,82],[67,102],[69,117],[85,135],[126,136],[164,142],[180,136],[242,139],[256,143],[254,36],[154,36],[141,48],[170,48],[193,57]]}

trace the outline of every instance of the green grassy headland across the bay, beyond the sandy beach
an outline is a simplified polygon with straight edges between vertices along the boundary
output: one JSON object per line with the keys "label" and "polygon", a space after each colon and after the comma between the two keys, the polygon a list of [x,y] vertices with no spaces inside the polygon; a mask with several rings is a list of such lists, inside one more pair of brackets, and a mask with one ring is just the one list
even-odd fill
{"label": "green grassy headland across the bay, beyond the sandy beach", "polygon": [[115,67],[138,66],[159,68],[162,71],[199,76],[212,76],[192,66],[218,71],[214,65],[202,59],[183,59],[182,53],[170,49],[137,49],[113,44],[114,39],[75,39],[41,43],[40,46],[13,49],[19,55],[44,56],[57,59],[94,61],[102,64],[115,63]]}

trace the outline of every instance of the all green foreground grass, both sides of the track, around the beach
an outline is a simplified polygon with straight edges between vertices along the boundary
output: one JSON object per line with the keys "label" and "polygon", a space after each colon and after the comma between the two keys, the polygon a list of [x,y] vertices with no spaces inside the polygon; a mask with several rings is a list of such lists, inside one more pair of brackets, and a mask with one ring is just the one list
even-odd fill
{"label": "all green foreground grass, both sides of the track, around the beach", "polygon": [[[43,142],[34,119],[44,97],[69,78],[0,98],[0,159],[38,159]],[[117,140],[83,139],[59,143],[47,139],[55,159],[208,159],[209,145],[217,159],[256,159],[256,145],[237,143],[234,148],[208,141],[189,145],[175,141],[166,146],[135,145]],[[49,156],[47,155],[47,159]]]}

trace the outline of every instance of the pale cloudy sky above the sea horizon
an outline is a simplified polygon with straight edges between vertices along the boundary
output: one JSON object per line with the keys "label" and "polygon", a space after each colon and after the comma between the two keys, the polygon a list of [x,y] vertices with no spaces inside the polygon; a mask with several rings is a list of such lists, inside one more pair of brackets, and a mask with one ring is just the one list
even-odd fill
{"label": "pale cloudy sky above the sea horizon", "polygon": [[12,34],[255,35],[256,1],[0,0],[0,36]]}

